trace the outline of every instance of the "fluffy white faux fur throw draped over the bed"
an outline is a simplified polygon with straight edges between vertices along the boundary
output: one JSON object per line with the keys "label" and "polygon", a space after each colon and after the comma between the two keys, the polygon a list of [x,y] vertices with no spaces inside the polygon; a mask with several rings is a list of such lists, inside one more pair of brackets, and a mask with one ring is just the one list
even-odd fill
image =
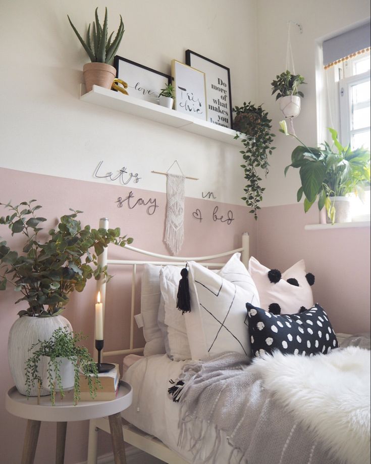
{"label": "fluffy white faux fur throw draped over the bed", "polygon": [[276,352],[251,367],[340,462],[370,462],[368,350],[350,346],[313,357]]}

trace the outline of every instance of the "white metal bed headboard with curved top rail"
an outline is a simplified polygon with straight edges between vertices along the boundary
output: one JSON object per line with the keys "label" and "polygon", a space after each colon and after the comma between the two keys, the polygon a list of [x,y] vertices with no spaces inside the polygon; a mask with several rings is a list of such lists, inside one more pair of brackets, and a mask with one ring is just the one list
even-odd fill
{"label": "white metal bed headboard with curved top rail", "polygon": [[[109,228],[109,220],[108,218],[101,218],[99,220],[99,228],[108,229]],[[139,258],[142,259],[133,260],[133,259],[110,259],[108,257],[108,248],[105,248],[103,253],[98,256],[98,263],[101,266],[107,265],[111,267],[113,265],[117,266],[131,266],[132,268],[132,279],[131,279],[131,310],[130,310],[130,340],[129,340],[129,348],[123,350],[116,350],[116,351],[102,351],[102,356],[116,356],[116,355],[127,355],[131,353],[140,353],[143,351],[142,348],[134,348],[134,311],[135,311],[135,294],[136,294],[136,272],[137,266],[144,265],[146,263],[150,264],[157,264],[157,265],[167,265],[173,264],[175,266],[184,266],[187,261],[197,261],[200,264],[213,267],[213,268],[220,268],[223,267],[225,263],[218,263],[214,262],[213,260],[218,258],[223,258],[225,256],[233,255],[234,253],[240,252],[241,253],[241,261],[248,266],[249,260],[249,234],[247,232],[242,234],[242,246],[235,250],[226,251],[224,253],[218,253],[216,255],[209,255],[209,256],[167,256],[158,253],[153,253],[146,250],[141,250],[139,248],[132,247],[131,245],[126,245],[123,250],[131,250],[133,252],[138,253]],[[143,259],[145,256],[149,256],[151,259]],[[153,258],[157,259],[154,260]],[[105,312],[105,291],[106,291],[106,283],[99,280],[97,281],[97,291],[100,292],[100,301],[103,303],[103,327],[104,327],[104,312]],[[95,338],[95,334],[94,334]],[[95,352],[95,350],[94,350]]]}

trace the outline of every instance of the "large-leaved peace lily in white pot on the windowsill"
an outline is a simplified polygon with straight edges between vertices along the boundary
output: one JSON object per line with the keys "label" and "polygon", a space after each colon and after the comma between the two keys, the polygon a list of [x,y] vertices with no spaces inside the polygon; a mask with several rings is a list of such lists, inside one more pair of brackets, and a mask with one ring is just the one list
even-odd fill
{"label": "large-leaved peace lily in white pot on the windowsill", "polygon": [[328,222],[349,222],[349,194],[357,193],[370,182],[370,152],[363,147],[351,150],[343,147],[336,130],[329,128],[333,146],[325,142],[323,148],[311,148],[303,144],[294,134],[287,131],[286,121],[280,122],[280,131],[300,142],[291,155],[290,167],[299,169],[301,187],[297,201],[304,195],[304,211],[315,201],[320,211],[325,207]]}

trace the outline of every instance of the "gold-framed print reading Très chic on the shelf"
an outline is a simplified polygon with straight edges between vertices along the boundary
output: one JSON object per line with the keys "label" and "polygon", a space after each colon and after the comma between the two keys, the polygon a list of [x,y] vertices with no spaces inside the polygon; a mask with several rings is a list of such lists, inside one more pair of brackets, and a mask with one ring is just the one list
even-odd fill
{"label": "gold-framed print reading Tr\u00e8s chic on the shelf", "polygon": [[175,86],[175,109],[206,121],[205,74],[172,60],[171,71]]}

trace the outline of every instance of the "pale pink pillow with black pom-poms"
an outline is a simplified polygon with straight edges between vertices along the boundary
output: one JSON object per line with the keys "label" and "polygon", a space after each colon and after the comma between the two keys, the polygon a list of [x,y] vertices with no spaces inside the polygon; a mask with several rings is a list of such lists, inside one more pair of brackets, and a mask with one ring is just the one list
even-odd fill
{"label": "pale pink pillow with black pom-poms", "polygon": [[254,257],[249,260],[248,270],[259,293],[260,308],[271,309],[275,314],[296,314],[302,307],[309,309],[313,306],[311,285],[314,276],[306,272],[303,259],[281,276],[277,269],[263,266]]}

